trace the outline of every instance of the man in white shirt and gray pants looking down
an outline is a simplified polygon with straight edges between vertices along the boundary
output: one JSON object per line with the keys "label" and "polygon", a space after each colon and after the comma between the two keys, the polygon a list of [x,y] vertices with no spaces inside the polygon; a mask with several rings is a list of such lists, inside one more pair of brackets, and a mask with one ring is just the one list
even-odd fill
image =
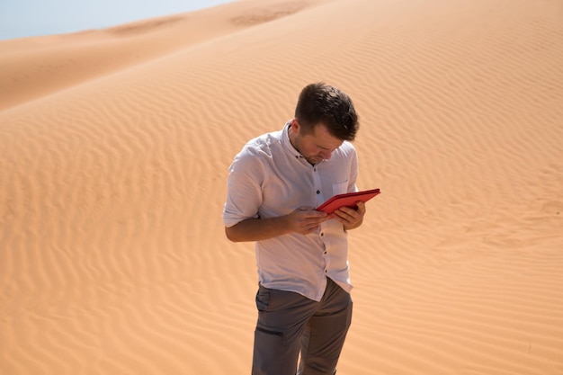
{"label": "man in white shirt and gray pants looking down", "polygon": [[[253,375],[333,375],[352,319],[347,230],[364,203],[315,208],[356,192],[358,130],[352,100],[317,83],[295,117],[250,140],[230,165],[223,210],[229,240],[255,241],[259,288]],[[299,359],[299,370],[297,362]]]}

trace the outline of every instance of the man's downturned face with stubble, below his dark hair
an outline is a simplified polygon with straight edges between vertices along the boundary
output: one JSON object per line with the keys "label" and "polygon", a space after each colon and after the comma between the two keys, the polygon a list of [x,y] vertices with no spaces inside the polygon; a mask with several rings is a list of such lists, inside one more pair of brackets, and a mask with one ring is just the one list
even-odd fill
{"label": "man's downturned face with stubble, below his dark hair", "polygon": [[313,131],[303,134],[297,120],[291,123],[290,140],[293,147],[311,165],[330,159],[333,151],[342,146],[344,142],[342,139],[332,136],[324,124],[318,124]]}

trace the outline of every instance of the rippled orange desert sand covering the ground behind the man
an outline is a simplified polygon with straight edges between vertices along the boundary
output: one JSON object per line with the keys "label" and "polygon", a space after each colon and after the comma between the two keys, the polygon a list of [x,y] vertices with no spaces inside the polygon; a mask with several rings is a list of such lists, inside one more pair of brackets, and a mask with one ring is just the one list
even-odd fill
{"label": "rippled orange desert sand covering the ground behind the man", "polygon": [[382,192],[338,373],[563,374],[559,0],[242,0],[0,41],[0,373],[250,373],[228,165],[317,81]]}

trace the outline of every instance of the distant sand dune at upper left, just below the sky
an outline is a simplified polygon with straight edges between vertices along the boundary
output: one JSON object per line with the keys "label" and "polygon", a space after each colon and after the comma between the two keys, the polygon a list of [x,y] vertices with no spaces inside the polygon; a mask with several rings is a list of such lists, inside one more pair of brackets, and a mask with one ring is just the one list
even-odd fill
{"label": "distant sand dune at upper left, just below the sky", "polygon": [[0,85],[10,95],[0,110],[163,58],[180,49],[196,48],[249,26],[307,9],[307,2],[255,1],[225,4],[201,11],[47,37],[0,40]]}

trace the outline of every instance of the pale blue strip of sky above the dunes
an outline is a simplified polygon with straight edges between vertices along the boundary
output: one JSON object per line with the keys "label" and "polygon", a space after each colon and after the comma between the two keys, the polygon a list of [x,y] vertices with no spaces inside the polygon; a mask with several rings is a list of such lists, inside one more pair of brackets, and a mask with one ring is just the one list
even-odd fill
{"label": "pale blue strip of sky above the dunes", "polygon": [[0,40],[103,29],[233,0],[0,0]]}

